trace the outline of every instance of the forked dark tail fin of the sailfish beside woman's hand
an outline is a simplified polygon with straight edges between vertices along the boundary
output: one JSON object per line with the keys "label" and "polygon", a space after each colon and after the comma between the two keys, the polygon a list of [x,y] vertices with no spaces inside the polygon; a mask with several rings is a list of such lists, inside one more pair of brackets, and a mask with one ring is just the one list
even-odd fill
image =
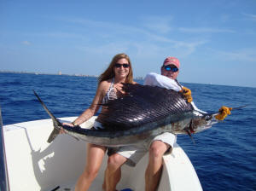
{"label": "forked dark tail fin of the sailfish beside woman's hand", "polygon": [[45,106],[44,102],[40,99],[40,97],[38,96],[38,94],[36,93],[35,90],[33,90],[34,95],[38,98],[38,101],[42,104],[42,106],[44,107],[44,110],[46,111],[46,113],[49,114],[49,117],[52,119],[53,125],[54,125],[54,130],[52,130],[52,132],[49,135],[49,138],[47,140],[47,142],[52,142],[56,136],[58,136],[60,134],[60,130],[61,130],[61,122],[55,118],[55,116],[53,115],[53,113],[49,112],[49,109]]}

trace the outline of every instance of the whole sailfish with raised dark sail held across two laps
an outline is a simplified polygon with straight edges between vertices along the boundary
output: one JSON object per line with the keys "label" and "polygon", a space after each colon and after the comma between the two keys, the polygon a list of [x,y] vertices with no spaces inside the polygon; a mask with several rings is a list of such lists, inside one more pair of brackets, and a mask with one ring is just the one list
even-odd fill
{"label": "whole sailfish with raised dark sail held across two laps", "polygon": [[119,147],[143,142],[164,132],[195,134],[218,123],[218,113],[201,113],[187,102],[180,92],[157,86],[123,84],[125,94],[102,104],[104,113],[97,121],[103,130],[83,129],[63,125],[45,106],[34,91],[38,101],[53,120],[54,130],[48,142],[52,142],[60,130],[79,140],[108,147]]}

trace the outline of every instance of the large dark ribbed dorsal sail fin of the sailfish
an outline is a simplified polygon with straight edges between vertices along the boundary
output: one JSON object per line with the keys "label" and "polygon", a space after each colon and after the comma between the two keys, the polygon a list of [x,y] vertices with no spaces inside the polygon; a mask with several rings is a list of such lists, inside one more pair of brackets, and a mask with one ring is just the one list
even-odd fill
{"label": "large dark ribbed dorsal sail fin of the sailfish", "polygon": [[99,114],[97,120],[106,130],[136,128],[170,114],[178,115],[193,109],[174,90],[141,84],[124,84],[123,90],[124,96],[103,104],[107,112]]}

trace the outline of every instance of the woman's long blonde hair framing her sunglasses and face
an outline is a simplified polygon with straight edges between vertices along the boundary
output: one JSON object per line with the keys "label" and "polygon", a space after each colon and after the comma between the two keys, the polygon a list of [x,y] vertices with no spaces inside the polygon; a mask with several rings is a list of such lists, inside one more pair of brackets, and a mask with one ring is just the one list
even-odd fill
{"label": "woman's long blonde hair framing her sunglasses and face", "polygon": [[125,79],[125,83],[129,83],[129,84],[133,83],[133,74],[132,74],[131,61],[130,61],[129,56],[125,55],[124,53],[113,56],[113,59],[110,62],[107,70],[105,70],[105,72],[102,72],[102,74],[99,76],[98,82],[101,83],[104,80],[114,78],[115,74],[114,74],[114,71],[113,71],[113,67],[117,63],[117,61],[119,61],[120,59],[123,59],[123,58],[125,58],[128,61],[129,65],[130,65],[130,70],[129,70],[129,73],[128,73],[126,79]]}

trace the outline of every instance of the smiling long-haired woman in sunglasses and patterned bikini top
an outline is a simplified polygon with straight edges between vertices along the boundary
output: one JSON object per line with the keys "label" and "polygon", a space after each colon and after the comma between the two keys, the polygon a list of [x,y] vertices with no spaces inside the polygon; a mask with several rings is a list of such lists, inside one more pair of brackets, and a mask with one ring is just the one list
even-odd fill
{"label": "smiling long-haired woman in sunglasses and patterned bikini top", "polygon": [[[96,96],[90,107],[82,113],[79,118],[75,119],[70,126],[84,123],[90,119],[99,110],[102,103],[113,100],[121,94],[121,83],[136,84],[133,81],[131,61],[128,55],[115,55],[110,62],[107,70],[100,75],[98,79]],[[102,113],[106,111],[102,107]],[[102,129],[99,122],[95,122],[94,128]],[[102,165],[102,159],[106,152],[106,147],[88,143],[86,154],[86,165],[83,174],[79,177],[75,191],[88,190],[91,182],[96,178],[97,172]]]}

